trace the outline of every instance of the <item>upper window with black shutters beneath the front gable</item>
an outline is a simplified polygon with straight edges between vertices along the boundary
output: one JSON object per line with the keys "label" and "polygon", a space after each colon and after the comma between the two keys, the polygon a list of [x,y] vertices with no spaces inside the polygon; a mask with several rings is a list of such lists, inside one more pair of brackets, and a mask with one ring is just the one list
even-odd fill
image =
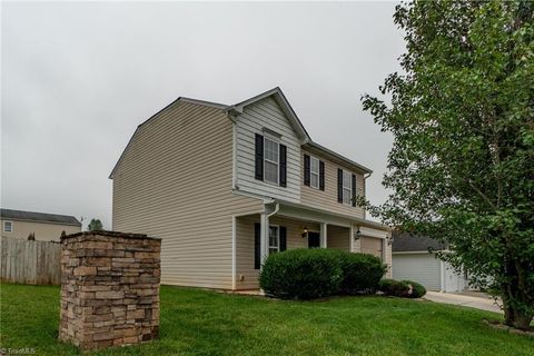
{"label": "upper window with black shutters beneath the front gable", "polygon": [[255,178],[280,187],[287,185],[287,147],[273,135],[256,134]]}

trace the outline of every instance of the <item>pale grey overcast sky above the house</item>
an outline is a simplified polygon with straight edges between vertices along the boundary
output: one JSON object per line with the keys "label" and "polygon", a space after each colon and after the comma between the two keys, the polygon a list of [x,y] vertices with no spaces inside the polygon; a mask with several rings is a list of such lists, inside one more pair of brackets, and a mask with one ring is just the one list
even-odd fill
{"label": "pale grey overcast sky above the house", "polygon": [[[363,111],[404,51],[393,2],[2,3],[1,206],[100,218],[136,127],[179,96],[236,103],[279,86],[312,138],[374,170]],[[86,221],[87,222],[87,221]]]}

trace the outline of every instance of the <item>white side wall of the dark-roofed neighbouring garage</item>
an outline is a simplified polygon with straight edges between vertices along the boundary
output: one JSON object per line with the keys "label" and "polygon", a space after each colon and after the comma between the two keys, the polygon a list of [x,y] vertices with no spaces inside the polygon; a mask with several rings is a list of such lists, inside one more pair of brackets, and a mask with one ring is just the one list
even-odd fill
{"label": "white side wall of the dark-roofed neighbouring garage", "polygon": [[414,280],[428,290],[439,290],[439,259],[431,254],[393,255],[393,278]]}

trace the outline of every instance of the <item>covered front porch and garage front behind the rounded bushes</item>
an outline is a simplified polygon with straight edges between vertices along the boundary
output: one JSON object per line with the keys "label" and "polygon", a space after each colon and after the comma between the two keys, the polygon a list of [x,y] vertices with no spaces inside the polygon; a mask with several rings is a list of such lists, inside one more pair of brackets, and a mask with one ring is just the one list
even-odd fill
{"label": "covered front porch and garage front behind the rounded bushes", "polygon": [[[257,289],[269,254],[294,248],[335,248],[373,254],[390,267],[389,229],[380,224],[291,202],[234,216],[233,289]],[[390,268],[388,268],[390,274]]]}

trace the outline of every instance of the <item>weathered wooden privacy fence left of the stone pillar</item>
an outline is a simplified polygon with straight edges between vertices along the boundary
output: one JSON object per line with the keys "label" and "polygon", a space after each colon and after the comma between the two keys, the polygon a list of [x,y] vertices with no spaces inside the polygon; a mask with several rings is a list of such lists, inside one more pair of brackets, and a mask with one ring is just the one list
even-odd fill
{"label": "weathered wooden privacy fence left of the stone pillar", "polygon": [[27,285],[61,284],[61,244],[2,236],[1,279]]}

